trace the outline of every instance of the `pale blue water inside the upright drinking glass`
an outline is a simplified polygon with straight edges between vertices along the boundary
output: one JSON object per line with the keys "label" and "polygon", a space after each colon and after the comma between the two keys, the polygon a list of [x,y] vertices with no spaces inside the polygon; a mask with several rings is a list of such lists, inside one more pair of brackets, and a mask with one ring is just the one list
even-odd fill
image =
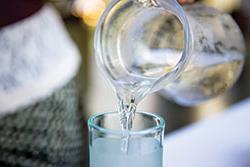
{"label": "pale blue water inside the upright drinking glass", "polygon": [[127,152],[121,140],[100,138],[90,147],[91,167],[162,167],[159,141],[152,138],[130,139]]}

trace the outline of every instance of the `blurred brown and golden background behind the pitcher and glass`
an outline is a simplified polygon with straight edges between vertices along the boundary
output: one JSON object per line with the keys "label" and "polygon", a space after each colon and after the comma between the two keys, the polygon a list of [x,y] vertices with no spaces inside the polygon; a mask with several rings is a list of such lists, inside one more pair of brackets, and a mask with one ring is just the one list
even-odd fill
{"label": "blurred brown and golden background behind the pitcher and glass", "polygon": [[[116,110],[116,97],[95,62],[93,36],[108,0],[49,0],[60,11],[72,39],[81,51],[83,63],[78,75],[84,118],[97,112]],[[167,118],[167,134],[193,122],[212,117],[250,95],[250,2],[248,0],[200,0],[232,15],[240,26],[247,48],[246,64],[237,84],[226,94],[194,107],[182,107],[159,92],[148,96],[140,110]]]}

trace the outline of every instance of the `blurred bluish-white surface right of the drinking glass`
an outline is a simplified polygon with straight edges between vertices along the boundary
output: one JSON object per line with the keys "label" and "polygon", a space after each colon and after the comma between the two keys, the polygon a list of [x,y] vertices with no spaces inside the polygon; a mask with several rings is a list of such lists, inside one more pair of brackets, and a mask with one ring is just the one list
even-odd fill
{"label": "blurred bluish-white surface right of the drinking glass", "polygon": [[250,99],[165,139],[164,167],[249,167]]}

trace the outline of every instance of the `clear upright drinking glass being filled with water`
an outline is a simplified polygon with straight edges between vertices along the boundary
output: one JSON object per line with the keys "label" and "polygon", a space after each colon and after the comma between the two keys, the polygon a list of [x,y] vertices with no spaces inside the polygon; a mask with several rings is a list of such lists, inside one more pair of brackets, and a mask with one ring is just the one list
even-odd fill
{"label": "clear upright drinking glass being filled with water", "polygon": [[[118,112],[101,113],[88,121],[90,167],[162,167],[164,120],[137,112],[133,128],[123,131]],[[126,147],[126,149],[124,149]]]}

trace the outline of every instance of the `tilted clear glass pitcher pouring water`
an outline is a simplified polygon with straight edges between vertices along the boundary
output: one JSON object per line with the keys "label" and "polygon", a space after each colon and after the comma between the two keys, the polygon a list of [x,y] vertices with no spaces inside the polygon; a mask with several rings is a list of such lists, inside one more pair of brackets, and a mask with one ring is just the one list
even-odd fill
{"label": "tilted clear glass pitcher pouring water", "polygon": [[95,49],[118,98],[128,98],[123,92],[129,90],[140,101],[164,89],[182,105],[228,90],[245,52],[229,14],[200,3],[181,7],[176,0],[112,1],[99,21]]}

